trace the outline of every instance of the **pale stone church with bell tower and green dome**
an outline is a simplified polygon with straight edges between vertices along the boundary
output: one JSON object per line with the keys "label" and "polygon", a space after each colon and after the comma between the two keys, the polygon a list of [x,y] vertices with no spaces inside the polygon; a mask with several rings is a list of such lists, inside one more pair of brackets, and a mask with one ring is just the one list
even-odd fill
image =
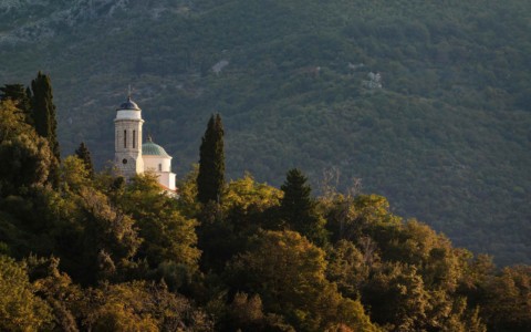
{"label": "pale stone church with bell tower and green dome", "polygon": [[137,174],[150,172],[158,178],[158,184],[168,191],[175,193],[175,173],[171,173],[171,156],[153,142],[152,137],[143,143],[142,110],[131,100],[116,108],[114,120],[114,164],[117,170],[131,178]]}

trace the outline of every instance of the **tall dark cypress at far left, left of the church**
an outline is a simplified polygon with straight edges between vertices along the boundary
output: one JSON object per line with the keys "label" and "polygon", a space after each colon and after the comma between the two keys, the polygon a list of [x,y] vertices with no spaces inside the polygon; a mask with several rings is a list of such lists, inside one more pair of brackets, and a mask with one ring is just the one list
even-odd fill
{"label": "tall dark cypress at far left, left of the church", "polygon": [[51,165],[50,181],[53,185],[59,183],[59,163],[61,155],[58,142],[58,122],[55,120],[55,105],[53,104],[52,84],[50,76],[39,72],[35,80],[31,81],[33,96],[31,98],[32,116],[35,131],[46,138],[55,160]]}

